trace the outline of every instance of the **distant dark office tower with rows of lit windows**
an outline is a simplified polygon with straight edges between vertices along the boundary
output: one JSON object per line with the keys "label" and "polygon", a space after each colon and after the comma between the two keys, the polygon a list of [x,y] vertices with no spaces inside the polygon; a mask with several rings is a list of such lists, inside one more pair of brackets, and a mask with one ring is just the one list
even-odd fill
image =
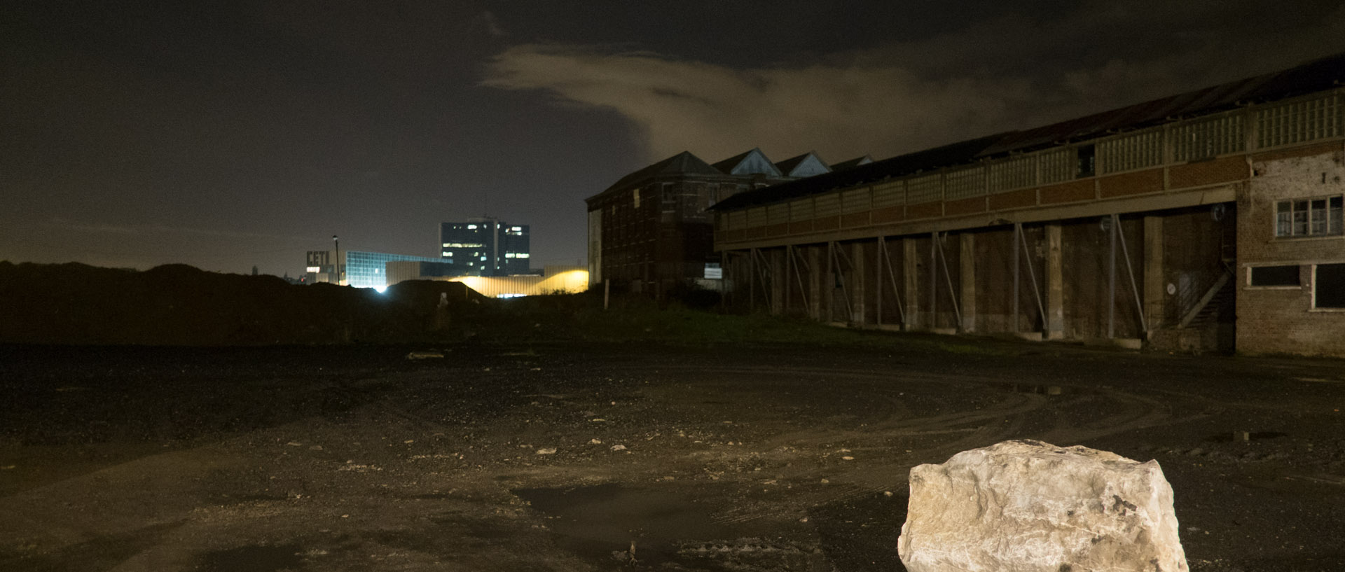
{"label": "distant dark office tower with rows of lit windows", "polygon": [[482,218],[440,223],[440,256],[464,275],[504,277],[529,273],[527,224]]}

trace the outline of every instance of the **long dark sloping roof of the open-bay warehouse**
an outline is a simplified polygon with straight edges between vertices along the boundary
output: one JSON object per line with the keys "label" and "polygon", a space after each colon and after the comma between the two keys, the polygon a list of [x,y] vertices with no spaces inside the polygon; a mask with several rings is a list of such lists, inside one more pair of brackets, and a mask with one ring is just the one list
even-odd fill
{"label": "long dark sloping roof of the open-bay warehouse", "polygon": [[722,211],[776,203],[835,188],[855,187],[888,177],[912,175],[920,171],[954,166],[979,158],[1005,156],[1013,152],[1030,152],[1068,141],[1100,137],[1120,130],[1142,129],[1181,118],[1237,109],[1251,103],[1264,103],[1314,91],[1325,91],[1340,86],[1342,82],[1345,82],[1345,54],[1337,54],[1284,71],[1169,95],[1036,129],[962,141],[845,171],[781,183],[734,195],[712,208]]}

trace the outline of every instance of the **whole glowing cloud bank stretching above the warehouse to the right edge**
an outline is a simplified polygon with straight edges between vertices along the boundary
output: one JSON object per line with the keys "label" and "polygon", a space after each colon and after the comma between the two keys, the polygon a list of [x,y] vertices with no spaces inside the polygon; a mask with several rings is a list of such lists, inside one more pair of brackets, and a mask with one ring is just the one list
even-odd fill
{"label": "whole glowing cloud bank stretching above the warehouse to the right edge", "polygon": [[[777,160],[815,149],[841,161],[1063,121],[1345,48],[1342,8],[1295,24],[1289,38],[1250,24],[1243,35],[1206,34],[1202,26],[1220,24],[1206,21],[1210,9],[1085,3],[1049,23],[1005,16],[804,64],[751,68],[607,47],[522,44],[491,60],[483,85],[612,110],[636,128],[647,160],[691,150],[716,161],[761,146]],[[1151,46],[1088,52],[1098,44],[1089,39],[1134,43],[1119,36],[1135,30],[1150,31]]]}

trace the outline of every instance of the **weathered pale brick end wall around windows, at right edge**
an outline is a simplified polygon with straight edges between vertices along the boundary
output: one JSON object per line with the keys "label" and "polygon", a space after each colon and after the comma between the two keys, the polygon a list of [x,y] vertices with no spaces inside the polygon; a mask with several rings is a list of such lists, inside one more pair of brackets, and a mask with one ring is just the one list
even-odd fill
{"label": "weathered pale brick end wall around windows, at right edge", "polygon": [[[1255,160],[1237,193],[1237,350],[1345,357],[1345,312],[1313,309],[1313,265],[1345,262],[1345,236],[1275,238],[1275,203],[1345,192],[1345,152]],[[1255,266],[1298,266],[1299,286],[1250,286]]]}

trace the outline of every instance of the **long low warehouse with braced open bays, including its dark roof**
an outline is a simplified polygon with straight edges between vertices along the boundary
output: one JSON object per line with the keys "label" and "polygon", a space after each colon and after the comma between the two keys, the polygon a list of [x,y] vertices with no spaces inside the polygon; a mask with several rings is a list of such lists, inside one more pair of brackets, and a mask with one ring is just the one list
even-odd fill
{"label": "long low warehouse with braced open bays, including its dark roof", "polygon": [[1345,357],[1345,54],[738,193],[729,303]]}

